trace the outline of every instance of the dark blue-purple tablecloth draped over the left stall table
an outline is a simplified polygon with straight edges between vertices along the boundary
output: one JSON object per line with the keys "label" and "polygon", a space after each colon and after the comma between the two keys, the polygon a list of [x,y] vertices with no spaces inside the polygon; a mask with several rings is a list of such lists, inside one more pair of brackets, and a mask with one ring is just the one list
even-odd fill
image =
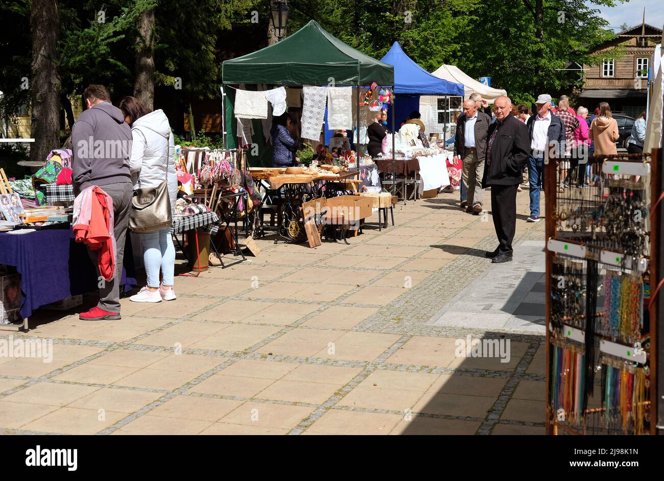
{"label": "dark blue-purple tablecloth draped over the left stall table", "polygon": [[[129,236],[127,236],[127,239]],[[131,245],[131,243],[128,243]],[[131,288],[133,254],[125,247],[122,285]],[[68,229],[38,230],[29,234],[0,234],[0,264],[13,265],[21,274],[21,318],[42,305],[97,290],[97,274],[82,243]]]}

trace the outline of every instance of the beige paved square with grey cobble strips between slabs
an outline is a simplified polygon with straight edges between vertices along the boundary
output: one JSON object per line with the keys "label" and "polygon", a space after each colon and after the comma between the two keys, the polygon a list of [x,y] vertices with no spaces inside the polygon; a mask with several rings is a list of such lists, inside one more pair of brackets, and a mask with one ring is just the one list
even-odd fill
{"label": "beige paved square with grey cobble strips between slabs", "polygon": [[[258,240],[177,277],[177,301],[123,299],[120,321],[37,311],[0,330],[54,343],[52,362],[0,358],[0,434],[543,434],[544,223],[520,215],[514,262],[492,265],[491,206],[457,204],[398,204],[351,245]],[[459,351],[467,336],[509,360]]]}

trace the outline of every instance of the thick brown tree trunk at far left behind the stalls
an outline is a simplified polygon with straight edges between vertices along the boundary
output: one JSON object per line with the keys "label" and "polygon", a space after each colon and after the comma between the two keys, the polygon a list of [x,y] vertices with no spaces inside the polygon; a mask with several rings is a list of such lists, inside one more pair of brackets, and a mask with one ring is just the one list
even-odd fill
{"label": "thick brown tree trunk at far left behind the stalls", "polygon": [[56,65],[60,14],[57,0],[33,0],[30,11],[33,37],[31,64],[31,161],[45,161],[60,147],[60,73]]}

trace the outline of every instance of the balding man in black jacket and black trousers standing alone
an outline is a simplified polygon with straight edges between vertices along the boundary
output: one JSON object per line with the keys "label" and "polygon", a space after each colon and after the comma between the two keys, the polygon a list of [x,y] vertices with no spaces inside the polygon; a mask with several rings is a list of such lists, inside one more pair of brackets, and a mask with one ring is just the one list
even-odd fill
{"label": "balding man in black jacket and black trousers standing alone", "polygon": [[517,187],[529,154],[528,129],[512,115],[512,101],[501,96],[493,103],[496,121],[487,133],[483,187],[491,187],[491,212],[499,245],[486,255],[493,263],[512,260],[517,226]]}

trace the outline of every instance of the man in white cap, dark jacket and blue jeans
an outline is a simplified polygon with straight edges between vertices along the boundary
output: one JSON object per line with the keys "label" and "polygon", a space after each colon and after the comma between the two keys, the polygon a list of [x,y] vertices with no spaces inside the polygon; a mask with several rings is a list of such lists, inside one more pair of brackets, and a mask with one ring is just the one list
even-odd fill
{"label": "man in white cap, dark jacket and blue jeans", "polygon": [[528,119],[528,182],[530,184],[531,216],[528,222],[539,222],[540,189],[544,188],[544,159],[560,157],[565,152],[565,126],[551,112],[551,96],[542,94],[535,102],[537,115]]}

